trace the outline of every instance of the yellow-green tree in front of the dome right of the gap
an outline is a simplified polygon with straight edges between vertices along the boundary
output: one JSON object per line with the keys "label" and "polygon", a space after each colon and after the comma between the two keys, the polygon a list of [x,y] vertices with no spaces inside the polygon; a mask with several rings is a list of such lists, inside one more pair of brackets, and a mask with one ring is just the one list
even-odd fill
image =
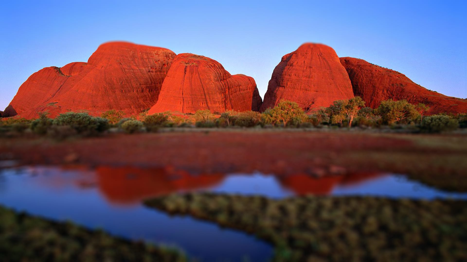
{"label": "yellow-green tree in front of the dome right of the gap", "polygon": [[306,117],[303,109],[297,103],[282,99],[273,109],[268,112],[275,119],[275,123],[282,122],[287,126],[290,121],[301,123]]}

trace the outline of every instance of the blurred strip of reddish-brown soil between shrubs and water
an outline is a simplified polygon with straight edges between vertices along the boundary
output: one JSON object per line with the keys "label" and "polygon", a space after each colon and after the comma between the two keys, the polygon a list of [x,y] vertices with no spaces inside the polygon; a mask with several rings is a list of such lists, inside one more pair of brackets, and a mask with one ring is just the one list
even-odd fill
{"label": "blurred strip of reddish-brown soil between shrubs and water", "polygon": [[[56,142],[0,138],[0,159],[23,165],[164,167],[191,173],[253,172],[323,177],[348,172],[406,173],[467,190],[467,136],[304,131],[113,134]],[[296,181],[289,181],[296,183]]]}

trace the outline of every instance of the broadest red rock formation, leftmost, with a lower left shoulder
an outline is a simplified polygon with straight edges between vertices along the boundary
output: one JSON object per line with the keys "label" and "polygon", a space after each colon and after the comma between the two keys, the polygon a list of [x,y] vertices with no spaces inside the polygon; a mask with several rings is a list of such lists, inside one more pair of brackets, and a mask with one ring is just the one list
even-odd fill
{"label": "broadest red rock formation, leftmost, with a lower left shoulder", "polygon": [[157,101],[174,57],[166,48],[102,44],[87,63],[47,67],[29,76],[5,115],[32,118],[41,111],[49,111],[52,117],[66,111],[99,115],[111,109],[138,114]]}

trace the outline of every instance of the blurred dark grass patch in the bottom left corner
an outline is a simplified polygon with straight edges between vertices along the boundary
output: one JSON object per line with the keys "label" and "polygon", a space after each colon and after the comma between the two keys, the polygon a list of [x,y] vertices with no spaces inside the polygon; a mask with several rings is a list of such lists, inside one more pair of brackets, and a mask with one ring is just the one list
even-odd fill
{"label": "blurred dark grass patch in the bottom left corner", "polygon": [[179,251],[0,206],[0,261],[186,261]]}

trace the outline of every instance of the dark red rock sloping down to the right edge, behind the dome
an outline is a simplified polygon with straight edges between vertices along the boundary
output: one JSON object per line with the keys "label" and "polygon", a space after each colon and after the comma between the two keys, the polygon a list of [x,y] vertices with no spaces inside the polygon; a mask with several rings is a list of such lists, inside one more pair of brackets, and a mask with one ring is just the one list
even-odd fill
{"label": "dark red rock sloping down to the right edge, behind the dome", "polygon": [[430,106],[429,114],[441,112],[467,113],[467,99],[447,97],[413,83],[407,76],[365,60],[341,57],[354,89],[366,106],[377,108],[381,101],[406,99],[410,103]]}

